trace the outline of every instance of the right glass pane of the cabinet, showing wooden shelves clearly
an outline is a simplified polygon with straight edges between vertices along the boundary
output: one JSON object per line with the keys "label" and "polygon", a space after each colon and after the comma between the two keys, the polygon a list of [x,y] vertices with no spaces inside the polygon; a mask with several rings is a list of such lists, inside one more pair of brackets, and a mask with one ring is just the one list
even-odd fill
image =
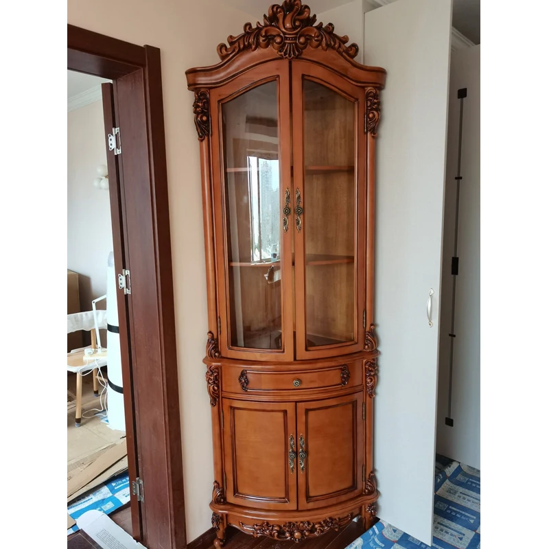
{"label": "right glass pane of the cabinet, showing wooden shelves clearly", "polygon": [[355,340],[355,104],[303,84],[307,348]]}

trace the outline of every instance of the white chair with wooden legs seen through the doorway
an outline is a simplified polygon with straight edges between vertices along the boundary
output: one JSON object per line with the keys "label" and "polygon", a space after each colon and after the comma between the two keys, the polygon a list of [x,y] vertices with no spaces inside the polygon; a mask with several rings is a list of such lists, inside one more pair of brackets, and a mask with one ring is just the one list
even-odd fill
{"label": "white chair with wooden legs seen through the doorway", "polygon": [[[97,328],[106,329],[106,311],[97,310]],[[67,334],[78,330],[88,330],[91,334],[91,345],[74,349],[67,353],[67,370],[76,374],[76,418],[75,426],[80,427],[82,421],[82,375],[93,371],[93,394],[99,395],[99,384],[97,382],[97,370],[106,366],[106,348],[97,348],[97,337],[95,335],[95,318],[93,311],[67,314]],[[88,354],[86,349],[93,349],[95,353]]]}

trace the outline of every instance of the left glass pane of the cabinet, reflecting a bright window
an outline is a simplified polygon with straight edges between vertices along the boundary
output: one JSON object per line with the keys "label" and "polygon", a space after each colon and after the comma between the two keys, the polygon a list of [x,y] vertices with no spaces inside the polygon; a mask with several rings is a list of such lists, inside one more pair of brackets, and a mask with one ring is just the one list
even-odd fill
{"label": "left glass pane of the cabinet, reflecting a bright window", "polygon": [[277,82],[222,105],[231,347],[281,349]]}

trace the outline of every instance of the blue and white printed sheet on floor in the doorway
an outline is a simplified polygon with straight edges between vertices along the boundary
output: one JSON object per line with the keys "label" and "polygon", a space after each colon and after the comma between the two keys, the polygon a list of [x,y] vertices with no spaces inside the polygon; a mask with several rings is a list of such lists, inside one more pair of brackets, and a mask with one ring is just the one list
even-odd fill
{"label": "blue and white printed sheet on floor in the doorway", "polygon": [[87,511],[102,511],[102,513],[108,515],[129,502],[130,478],[126,471],[97,488],[97,490],[82,495],[69,506],[67,513],[76,520],[76,524],[67,529],[67,535],[78,532],[78,519]]}

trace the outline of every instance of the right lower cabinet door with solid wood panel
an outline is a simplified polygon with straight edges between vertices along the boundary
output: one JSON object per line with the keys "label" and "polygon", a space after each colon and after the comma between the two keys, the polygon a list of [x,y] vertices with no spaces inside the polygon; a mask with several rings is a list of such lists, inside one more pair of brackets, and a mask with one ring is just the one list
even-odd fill
{"label": "right lower cabinet door with solid wood panel", "polygon": [[297,404],[299,509],[362,493],[363,393]]}

